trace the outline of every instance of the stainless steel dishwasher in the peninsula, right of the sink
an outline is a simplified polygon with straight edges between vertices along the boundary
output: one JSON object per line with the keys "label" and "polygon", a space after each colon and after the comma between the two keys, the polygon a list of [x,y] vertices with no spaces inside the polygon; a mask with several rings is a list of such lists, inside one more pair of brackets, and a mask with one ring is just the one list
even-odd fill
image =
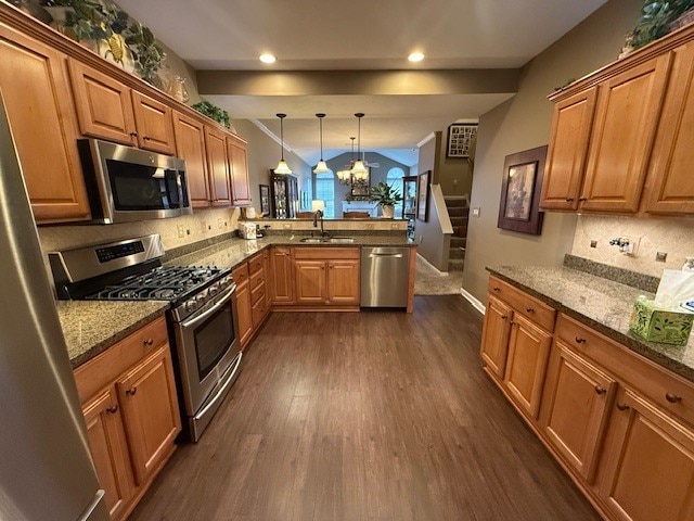
{"label": "stainless steel dishwasher in the peninsula, right of the sink", "polygon": [[361,306],[407,307],[409,247],[361,249]]}

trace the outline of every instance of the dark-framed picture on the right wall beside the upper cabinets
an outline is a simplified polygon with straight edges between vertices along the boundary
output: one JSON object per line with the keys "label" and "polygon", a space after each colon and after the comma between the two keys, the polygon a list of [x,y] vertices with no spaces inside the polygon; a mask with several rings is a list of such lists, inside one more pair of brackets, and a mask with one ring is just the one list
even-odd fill
{"label": "dark-framed picture on the right wall beside the upper cabinets", "polygon": [[545,157],[547,145],[506,155],[497,221],[502,230],[542,233],[540,192]]}

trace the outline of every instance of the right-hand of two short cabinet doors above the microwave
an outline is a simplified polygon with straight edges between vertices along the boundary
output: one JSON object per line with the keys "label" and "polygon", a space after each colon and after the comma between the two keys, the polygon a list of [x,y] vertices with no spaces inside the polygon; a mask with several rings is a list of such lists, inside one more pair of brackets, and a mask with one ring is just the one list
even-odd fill
{"label": "right-hand of two short cabinet doors above the microwave", "polygon": [[141,149],[174,155],[174,118],[171,107],[131,90],[134,122],[138,127],[138,145]]}

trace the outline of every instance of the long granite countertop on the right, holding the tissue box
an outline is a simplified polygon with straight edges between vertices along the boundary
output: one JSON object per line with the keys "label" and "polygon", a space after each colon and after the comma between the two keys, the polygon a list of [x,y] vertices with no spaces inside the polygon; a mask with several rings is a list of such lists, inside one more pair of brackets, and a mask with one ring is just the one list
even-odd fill
{"label": "long granite countertop on the right, holding the tissue box", "polygon": [[694,381],[694,336],[687,345],[647,342],[629,332],[633,302],[646,291],[576,269],[538,266],[492,266],[487,270],[576,318],[632,351]]}

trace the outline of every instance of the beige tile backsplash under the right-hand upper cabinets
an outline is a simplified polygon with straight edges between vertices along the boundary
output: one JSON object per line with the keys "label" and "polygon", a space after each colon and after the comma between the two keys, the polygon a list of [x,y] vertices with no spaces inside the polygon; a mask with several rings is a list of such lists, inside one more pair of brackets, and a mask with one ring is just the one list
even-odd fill
{"label": "beige tile backsplash under the right-hand upper cabinets", "polygon": [[[694,220],[683,218],[634,218],[580,215],[576,225],[571,254],[653,277],[664,269],[680,269],[684,257],[694,256]],[[625,255],[609,245],[618,237],[641,238],[637,255]],[[596,247],[590,247],[596,241]],[[667,253],[665,263],[655,260],[657,252]]]}

